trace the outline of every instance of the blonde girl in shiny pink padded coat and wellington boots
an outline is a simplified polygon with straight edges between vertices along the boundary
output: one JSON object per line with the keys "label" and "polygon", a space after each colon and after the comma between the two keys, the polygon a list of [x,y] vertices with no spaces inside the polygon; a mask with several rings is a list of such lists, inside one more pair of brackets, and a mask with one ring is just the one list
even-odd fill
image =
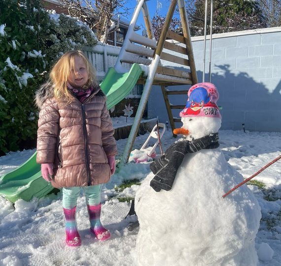
{"label": "blonde girl in shiny pink padded coat and wellington boots", "polygon": [[66,242],[79,246],[75,212],[83,188],[90,230],[110,237],[101,224],[101,185],[115,171],[117,147],[105,95],[81,51],[65,53],[50,71],[50,81],[36,92],[39,120],[37,163],[42,176],[63,188]]}

